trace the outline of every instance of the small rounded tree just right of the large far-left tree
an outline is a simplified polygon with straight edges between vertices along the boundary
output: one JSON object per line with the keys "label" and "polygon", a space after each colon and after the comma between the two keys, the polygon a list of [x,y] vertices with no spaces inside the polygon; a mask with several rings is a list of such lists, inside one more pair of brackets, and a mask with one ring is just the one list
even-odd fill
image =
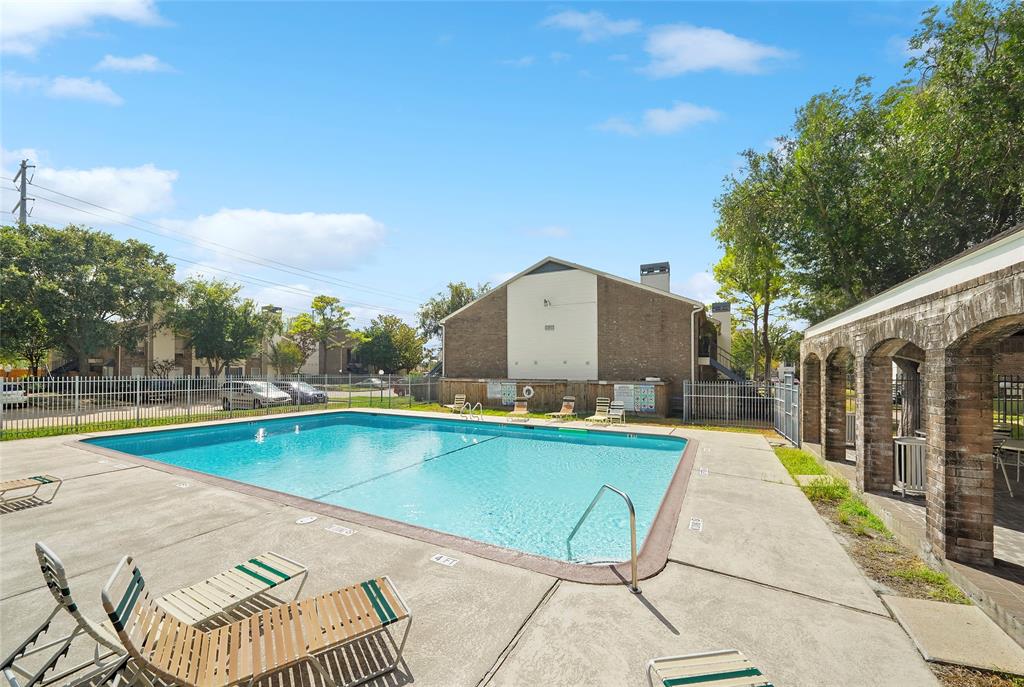
{"label": "small rounded tree just right of the large far-left tree", "polygon": [[167,325],[209,362],[213,377],[225,366],[252,356],[279,316],[257,309],[251,299],[239,298],[241,290],[219,280],[188,280],[167,314]]}

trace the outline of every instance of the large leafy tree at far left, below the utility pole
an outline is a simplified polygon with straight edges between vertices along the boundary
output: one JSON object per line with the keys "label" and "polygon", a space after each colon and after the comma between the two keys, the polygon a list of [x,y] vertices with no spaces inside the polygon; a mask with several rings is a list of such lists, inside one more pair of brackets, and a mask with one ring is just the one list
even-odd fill
{"label": "large leafy tree at far left, below the utility pole", "polygon": [[35,310],[50,343],[78,359],[80,374],[90,353],[136,345],[173,297],[174,265],[146,244],[74,224],[4,226],[2,234],[2,309]]}

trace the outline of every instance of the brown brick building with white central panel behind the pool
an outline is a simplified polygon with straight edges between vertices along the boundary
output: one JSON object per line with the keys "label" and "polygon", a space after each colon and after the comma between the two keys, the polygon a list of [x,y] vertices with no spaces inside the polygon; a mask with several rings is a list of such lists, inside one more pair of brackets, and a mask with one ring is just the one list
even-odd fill
{"label": "brown brick building with white central panel behind the pool", "polygon": [[702,303],[669,291],[669,278],[668,263],[643,265],[632,282],[545,258],[444,318],[443,375],[657,378],[680,395],[684,381],[715,376],[698,341],[717,330]]}

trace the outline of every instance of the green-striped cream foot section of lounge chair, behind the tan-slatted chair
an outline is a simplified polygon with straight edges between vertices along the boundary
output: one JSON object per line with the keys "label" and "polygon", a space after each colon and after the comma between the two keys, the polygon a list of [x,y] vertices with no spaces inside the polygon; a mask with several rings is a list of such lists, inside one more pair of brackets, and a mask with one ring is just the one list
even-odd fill
{"label": "green-striped cream foot section of lounge chair, behind the tan-slatted chair", "polygon": [[232,609],[257,595],[267,596],[281,603],[282,599],[268,592],[290,579],[301,577],[302,582],[292,597],[297,599],[306,584],[307,572],[301,563],[268,551],[198,585],[165,594],[157,599],[157,604],[185,622],[202,625],[207,620],[226,616]]}

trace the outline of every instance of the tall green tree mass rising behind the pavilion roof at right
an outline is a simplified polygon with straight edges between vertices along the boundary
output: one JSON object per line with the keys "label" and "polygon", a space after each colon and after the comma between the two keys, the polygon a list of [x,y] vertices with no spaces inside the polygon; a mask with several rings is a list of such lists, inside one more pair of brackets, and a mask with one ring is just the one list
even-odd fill
{"label": "tall green tree mass rising behind the pavilion roof at right", "polygon": [[[776,203],[726,197],[780,231],[819,321],[1024,220],[1024,5],[926,12],[906,80],[810,98],[777,153]],[[763,337],[764,328],[760,332]]]}

